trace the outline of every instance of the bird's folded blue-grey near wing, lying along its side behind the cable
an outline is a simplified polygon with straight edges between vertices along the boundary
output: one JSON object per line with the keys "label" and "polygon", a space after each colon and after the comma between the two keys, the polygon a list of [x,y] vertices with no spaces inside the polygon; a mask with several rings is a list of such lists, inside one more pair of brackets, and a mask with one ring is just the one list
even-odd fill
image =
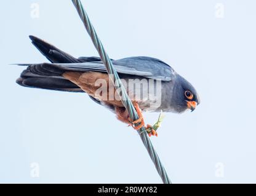
{"label": "bird's folded blue-grey near wing, lying along its side behind the cable", "polygon": [[[154,80],[170,81],[174,77],[175,71],[166,63],[149,57],[130,57],[112,61],[114,68],[119,74],[137,75]],[[24,64],[23,64],[24,65]],[[101,61],[81,62],[81,63],[54,63],[54,64],[25,64],[39,70],[44,67],[46,70],[75,71],[75,72],[103,72],[106,67]],[[55,72],[55,71],[54,71]],[[36,74],[36,73],[34,73]],[[47,73],[46,73],[47,74]]]}

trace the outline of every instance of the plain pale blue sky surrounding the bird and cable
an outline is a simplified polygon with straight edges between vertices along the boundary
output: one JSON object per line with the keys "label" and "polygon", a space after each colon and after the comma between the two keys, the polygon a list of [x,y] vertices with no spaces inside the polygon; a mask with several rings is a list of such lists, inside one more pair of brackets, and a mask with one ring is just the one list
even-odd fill
{"label": "plain pale blue sky surrounding the bird and cable", "polygon": [[[34,2],[39,18],[31,18]],[[111,58],[162,59],[198,89],[201,105],[166,113],[152,138],[173,183],[256,183],[256,3],[82,3]],[[215,17],[217,3],[224,18]],[[47,62],[30,34],[76,57],[97,55],[71,1],[4,1],[0,18],[0,183],[161,183],[137,133],[86,94],[15,83],[23,67],[8,64]],[[157,118],[145,114],[147,123]],[[39,178],[30,176],[33,162]]]}

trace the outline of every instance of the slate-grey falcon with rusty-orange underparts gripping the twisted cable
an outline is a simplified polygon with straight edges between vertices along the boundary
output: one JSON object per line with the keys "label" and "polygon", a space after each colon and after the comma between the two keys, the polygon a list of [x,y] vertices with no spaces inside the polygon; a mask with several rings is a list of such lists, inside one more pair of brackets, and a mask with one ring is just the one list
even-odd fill
{"label": "slate-grey falcon with rusty-orange underparts gripping the twisted cable", "polygon": [[[116,96],[118,89],[114,88],[113,80],[99,57],[74,58],[38,37],[29,37],[34,47],[50,62],[17,64],[26,66],[16,80],[18,85],[55,91],[86,92],[94,102],[113,111],[119,121],[131,125],[135,130],[143,126],[152,127],[145,125],[142,115],[144,111],[183,113],[187,110],[194,111],[201,102],[193,85],[164,61],[148,56],[111,59],[137,110],[138,119],[132,121],[121,97]],[[153,135],[158,135],[153,129],[148,134],[151,136],[152,132]]]}

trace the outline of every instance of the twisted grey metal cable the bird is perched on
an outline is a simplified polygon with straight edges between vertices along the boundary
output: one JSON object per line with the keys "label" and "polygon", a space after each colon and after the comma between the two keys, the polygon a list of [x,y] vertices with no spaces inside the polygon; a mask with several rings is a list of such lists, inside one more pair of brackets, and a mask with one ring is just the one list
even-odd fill
{"label": "twisted grey metal cable the bird is perched on", "polygon": [[[119,90],[119,96],[121,97],[122,104],[126,108],[126,110],[129,113],[130,118],[132,121],[135,121],[138,119],[137,111],[134,108],[134,105],[132,104],[131,100],[129,99],[129,96],[126,92],[126,89],[122,85],[122,82],[118,76],[118,73],[116,72],[116,69],[114,69],[114,66],[108,57],[108,54],[106,53],[102,42],[97,36],[97,33],[94,29],[94,26],[92,26],[92,23],[90,23],[89,17],[84,10],[84,7],[81,4],[80,0],[72,0],[74,7],[76,7],[76,10],[78,11],[79,17],[81,18],[82,22],[84,23],[84,26],[86,27],[86,30],[92,39],[92,42],[94,43],[95,48],[98,51],[98,54],[100,55],[100,58],[102,59],[103,64],[106,66],[106,70],[108,74],[110,75],[111,80],[114,83],[114,86],[116,89]],[[113,76],[113,77],[111,77]],[[153,161],[156,170],[159,173],[159,176],[161,176],[162,182],[164,184],[171,184],[171,181],[167,175],[167,172],[164,168],[164,166],[161,163],[161,160],[158,157],[158,154],[156,153],[150,138],[148,137],[148,134],[145,131],[145,128],[142,127],[140,130],[138,130],[138,133],[140,135],[140,138],[142,139],[142,142],[144,146],[146,147],[148,154],[150,154],[151,160]]]}

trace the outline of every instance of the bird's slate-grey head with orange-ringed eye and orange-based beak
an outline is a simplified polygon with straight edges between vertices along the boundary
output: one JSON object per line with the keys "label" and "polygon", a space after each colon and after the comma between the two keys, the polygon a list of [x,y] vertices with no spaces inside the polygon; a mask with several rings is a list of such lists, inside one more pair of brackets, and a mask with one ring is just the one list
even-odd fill
{"label": "bird's slate-grey head with orange-ringed eye and orange-based beak", "polygon": [[177,113],[186,110],[194,111],[200,104],[196,89],[185,78],[177,75],[172,96],[172,107]]}

